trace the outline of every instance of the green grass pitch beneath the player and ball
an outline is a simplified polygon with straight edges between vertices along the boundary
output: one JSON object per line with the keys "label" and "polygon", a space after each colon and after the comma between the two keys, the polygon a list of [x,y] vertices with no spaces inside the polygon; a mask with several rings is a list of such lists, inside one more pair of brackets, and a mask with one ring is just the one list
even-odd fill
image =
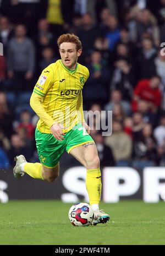
{"label": "green grass pitch beneath the player and ball", "polygon": [[111,221],[88,227],[70,224],[71,205],[56,200],[0,204],[0,244],[165,244],[163,201],[101,203]]}

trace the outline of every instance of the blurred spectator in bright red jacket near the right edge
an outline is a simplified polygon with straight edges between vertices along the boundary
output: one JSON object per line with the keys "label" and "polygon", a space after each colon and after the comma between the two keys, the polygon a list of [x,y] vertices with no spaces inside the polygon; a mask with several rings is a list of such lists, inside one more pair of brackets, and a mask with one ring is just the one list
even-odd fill
{"label": "blurred spectator in bright red jacket near the right edge", "polygon": [[133,111],[137,111],[138,101],[145,100],[148,102],[151,110],[156,110],[161,105],[161,91],[158,88],[160,84],[159,77],[152,77],[149,79],[142,79],[136,85],[134,90],[134,99],[132,101]]}

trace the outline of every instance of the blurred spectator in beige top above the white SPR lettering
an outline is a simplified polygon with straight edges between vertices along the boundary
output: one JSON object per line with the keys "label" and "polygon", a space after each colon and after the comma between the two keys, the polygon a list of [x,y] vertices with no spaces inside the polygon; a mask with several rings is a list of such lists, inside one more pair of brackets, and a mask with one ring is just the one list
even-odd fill
{"label": "blurred spectator in beige top above the white SPR lettering", "polygon": [[112,130],[112,135],[105,138],[105,143],[111,147],[117,166],[129,166],[132,153],[131,138],[123,132],[122,124],[118,121],[113,122]]}

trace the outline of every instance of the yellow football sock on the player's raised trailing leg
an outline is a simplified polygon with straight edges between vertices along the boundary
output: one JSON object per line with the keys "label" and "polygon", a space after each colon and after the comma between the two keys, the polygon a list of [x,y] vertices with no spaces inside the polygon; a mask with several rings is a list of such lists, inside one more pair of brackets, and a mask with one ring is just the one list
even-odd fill
{"label": "yellow football sock on the player's raised trailing leg", "polygon": [[34,179],[42,179],[42,165],[39,162],[35,162],[35,164],[31,162],[27,162],[24,165],[24,172],[30,175]]}

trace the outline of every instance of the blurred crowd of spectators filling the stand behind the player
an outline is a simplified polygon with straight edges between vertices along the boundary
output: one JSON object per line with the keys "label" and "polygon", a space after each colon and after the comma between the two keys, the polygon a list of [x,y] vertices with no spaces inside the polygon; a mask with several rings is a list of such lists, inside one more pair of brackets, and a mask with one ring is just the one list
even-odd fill
{"label": "blurred crowd of spectators filling the stand behind the player", "polygon": [[165,0],[0,0],[0,168],[38,161],[29,99],[66,32],[90,71],[84,110],[112,111],[111,136],[91,130],[101,166],[164,166]]}

